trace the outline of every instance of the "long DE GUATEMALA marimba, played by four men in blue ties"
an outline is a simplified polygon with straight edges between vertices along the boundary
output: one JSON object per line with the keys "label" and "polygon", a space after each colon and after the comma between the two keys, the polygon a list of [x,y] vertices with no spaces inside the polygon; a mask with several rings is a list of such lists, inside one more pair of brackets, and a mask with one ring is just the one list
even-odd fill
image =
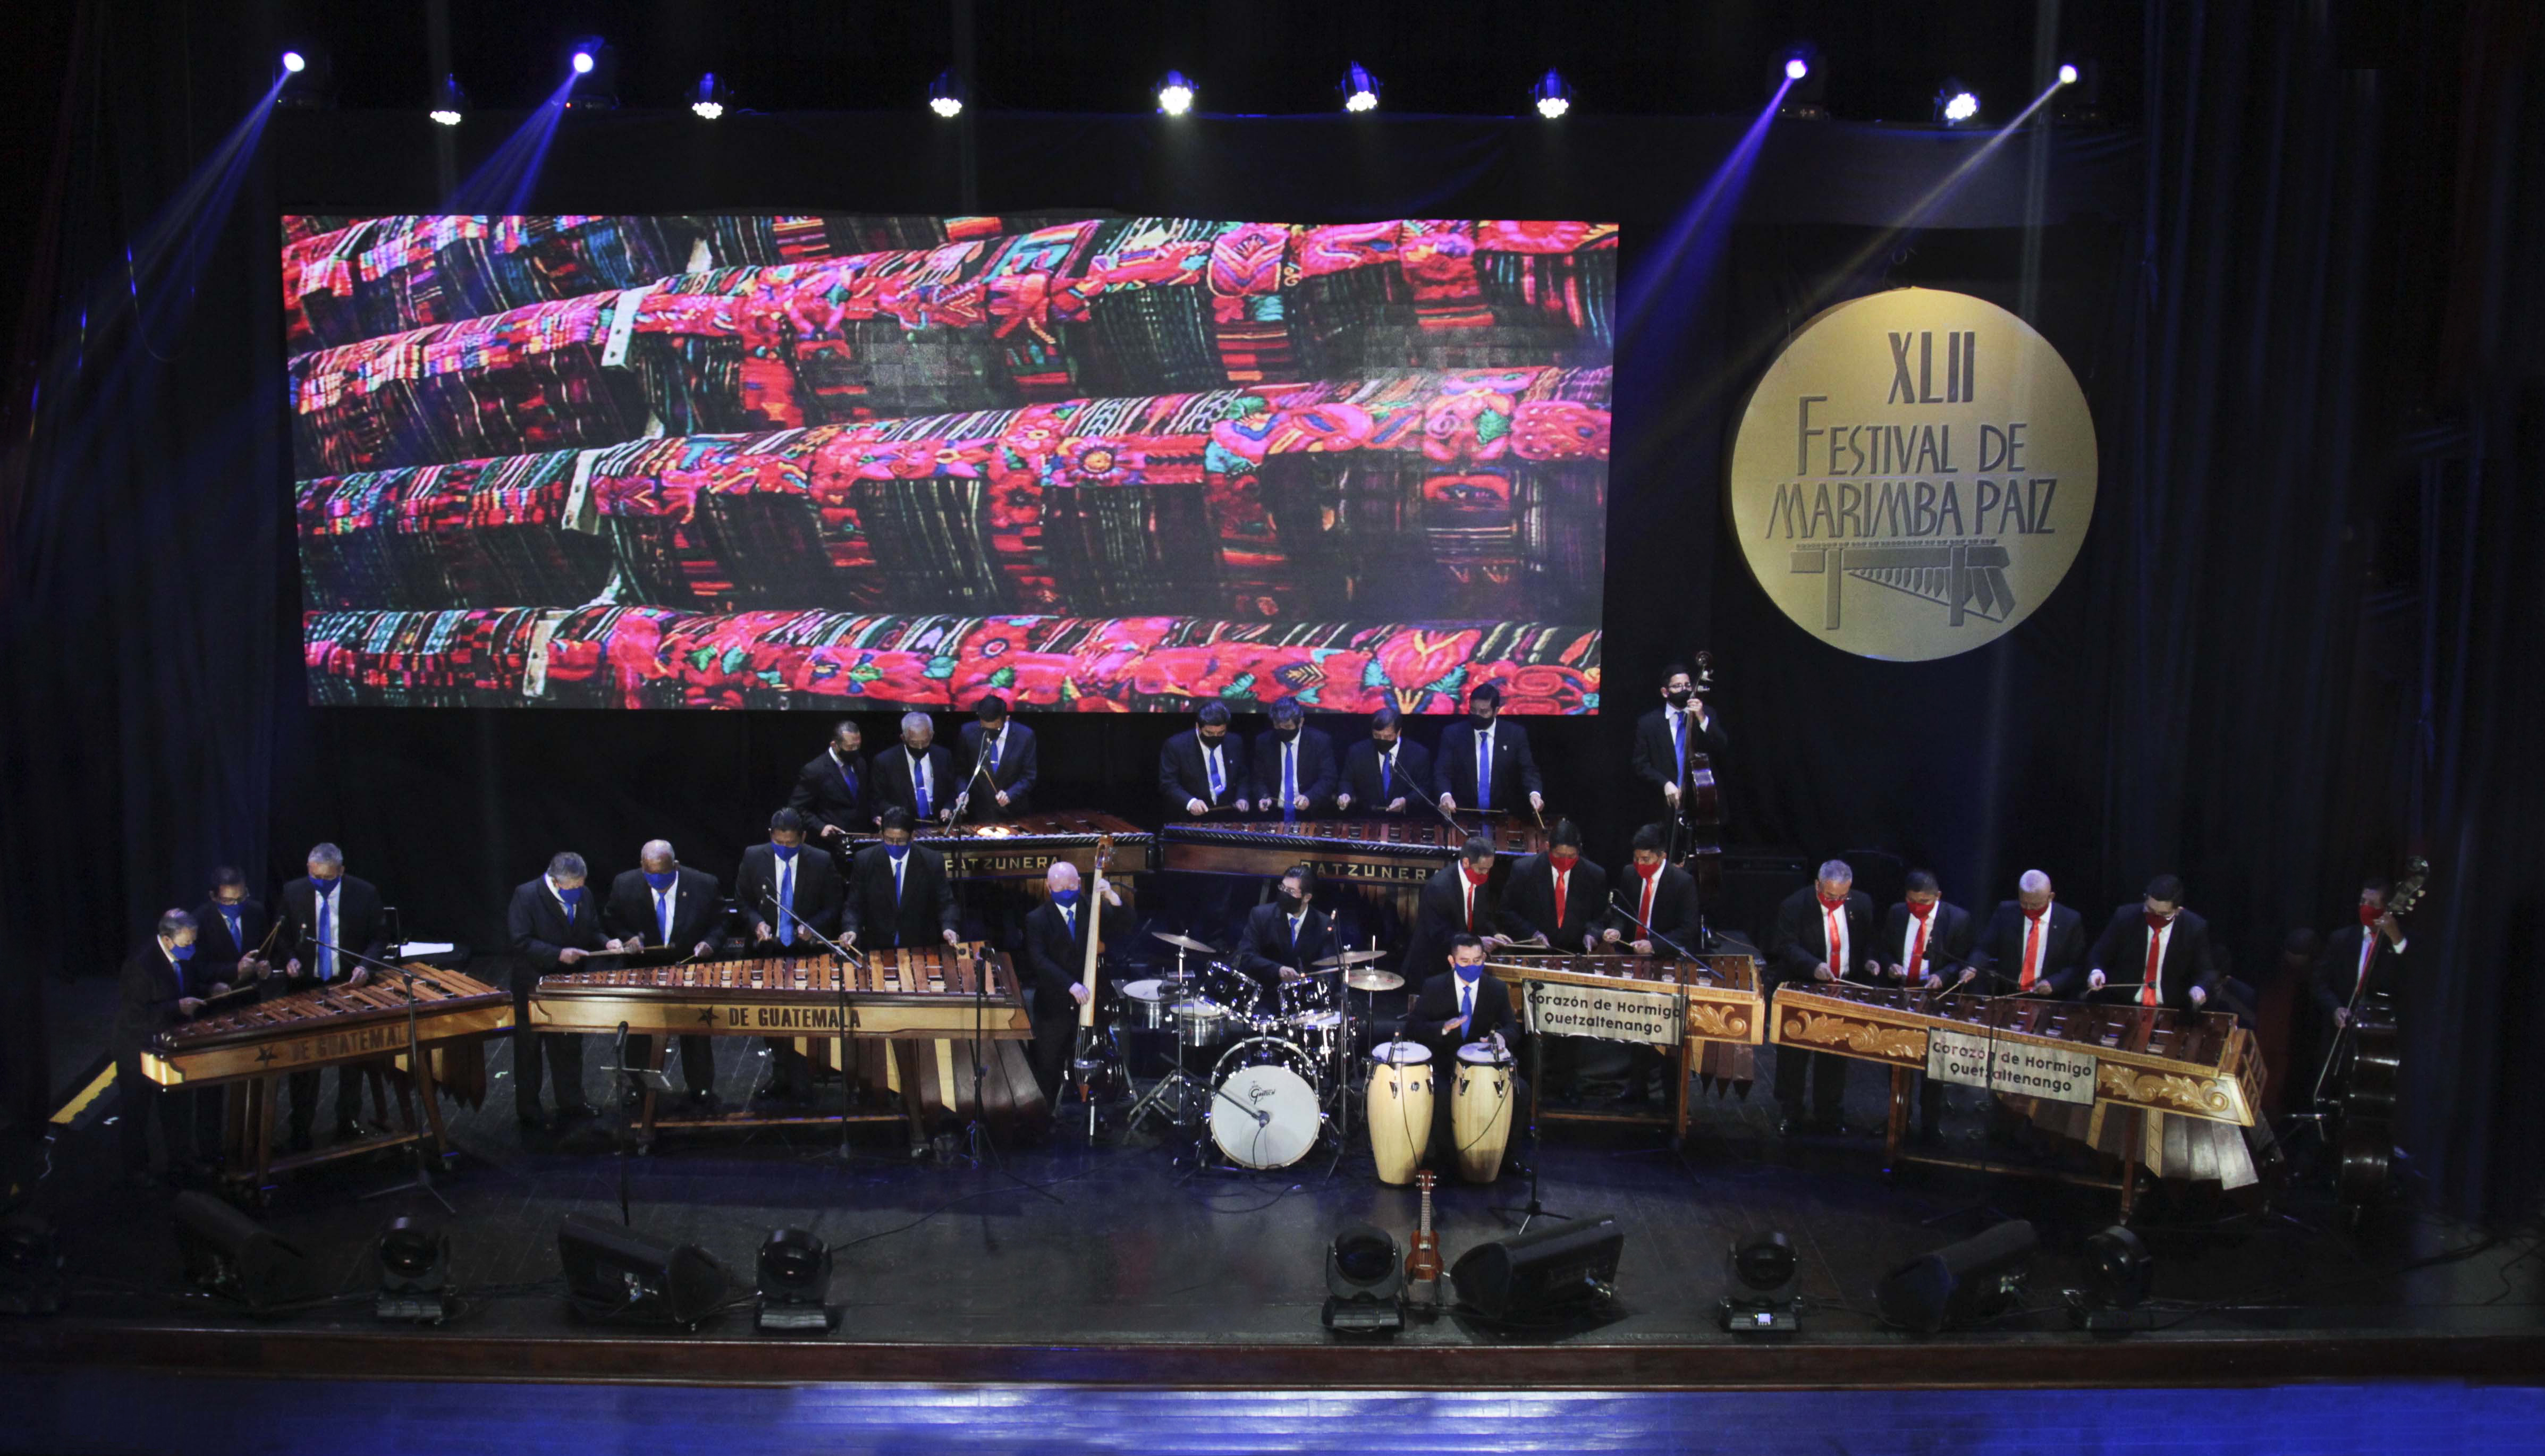
{"label": "long DE GUATEMALA marimba, played by four men in blue ties", "polygon": [[817,1061],[827,1061],[827,1051],[845,1036],[858,1044],[860,1079],[901,1095],[898,1112],[657,1117],[654,1095],[646,1092],[641,1117],[646,1138],[654,1128],[845,1117],[909,1123],[911,1143],[919,1145],[929,1107],[972,1115],[975,1033],[985,1046],[980,1069],[985,1115],[1041,1117],[1043,1095],[1021,1046],[1033,1036],[1033,1023],[1005,952],[987,952],[977,942],[863,952],[863,962],[845,967],[845,1028],[840,970],[830,955],[601,965],[542,975],[529,995],[529,1018],[537,1031],[616,1036],[626,1026],[631,1033],[654,1036],[657,1072],[672,1036],[799,1039]]}

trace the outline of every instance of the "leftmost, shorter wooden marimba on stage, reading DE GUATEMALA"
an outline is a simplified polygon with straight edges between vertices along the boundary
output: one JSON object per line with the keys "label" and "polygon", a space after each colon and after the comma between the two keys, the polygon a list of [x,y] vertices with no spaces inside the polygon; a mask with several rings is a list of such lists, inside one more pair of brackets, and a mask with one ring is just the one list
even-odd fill
{"label": "leftmost, shorter wooden marimba on stage, reading DE GUATEMALA", "polygon": [[[407,1056],[405,977],[372,972],[366,985],[321,985],[181,1021],[143,1051],[143,1077],[160,1087],[221,1087],[229,1176],[254,1179],[257,1189],[265,1189],[275,1171],[394,1148],[425,1135],[435,1151],[448,1151],[435,1097],[435,1061],[443,1064],[443,1082],[463,1100],[484,1097],[486,1064],[478,1039],[512,1026],[512,993],[456,970],[430,965],[407,970],[415,975],[415,1036],[425,1044],[425,1056]],[[405,1130],[275,1158],[275,1095],[285,1074],[382,1056],[407,1064],[415,1092],[422,1095],[425,1128],[417,1128],[407,1087],[400,1084]]]}

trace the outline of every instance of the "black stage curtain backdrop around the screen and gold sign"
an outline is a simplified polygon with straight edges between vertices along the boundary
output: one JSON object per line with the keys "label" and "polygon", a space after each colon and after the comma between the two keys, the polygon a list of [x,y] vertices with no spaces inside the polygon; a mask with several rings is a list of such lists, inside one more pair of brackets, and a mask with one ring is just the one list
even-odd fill
{"label": "black stage curtain backdrop around the screen and gold sign", "polygon": [[[214,863],[275,883],[331,837],[412,934],[489,944],[504,888],[557,848],[616,871],[662,835],[730,873],[830,718],[305,708],[272,219],[438,211],[519,117],[453,135],[415,112],[275,112],[224,193],[206,158],[272,46],[104,10],[84,8],[46,214],[59,267],[31,277],[0,481],[18,1107],[66,1074],[43,1059],[41,977],[104,970]],[[2532,145],[2494,140],[2535,140],[2530,71],[2476,38],[2517,25],[2474,5],[2362,56],[2306,13],[2158,0],[2135,132],[2018,137],[1916,211],[1985,132],[1779,122],[1736,221],[1698,229],[1670,277],[1659,242],[1751,117],[568,115],[527,211],[1619,219],[1626,290],[1657,303],[1619,351],[1603,713],[1532,720],[1593,855],[1621,858],[1647,812],[1631,723],[1695,647],[1720,667],[1736,843],[1855,855],[1876,891],[1927,863],[1985,906],[2039,865],[2100,919],[2179,871],[2260,975],[2288,927],[2336,924],[2357,876],[2425,845],[2441,893],[2415,929],[2410,1143],[2453,1207],[2502,1209],[2532,1189],[2517,1138],[2537,1125],[2514,1115],[2537,1095],[2514,1087],[2509,1023],[2532,1039],[2537,1008],[2509,955],[2545,909],[2512,871],[2537,807],[2517,649],[2545,545],[2522,328],[2540,272],[2512,244],[2545,186]],[[232,81],[178,94],[176,51]],[[1720,540],[1726,420],[1766,356],[1820,308],[1906,283],[2028,313],[2102,443],[2069,580],[1934,664],[1812,641]],[[2464,318],[2453,344],[2438,316]],[[1036,718],[1043,802],[1150,815],[1176,725]],[[888,736],[870,715],[868,741]]]}

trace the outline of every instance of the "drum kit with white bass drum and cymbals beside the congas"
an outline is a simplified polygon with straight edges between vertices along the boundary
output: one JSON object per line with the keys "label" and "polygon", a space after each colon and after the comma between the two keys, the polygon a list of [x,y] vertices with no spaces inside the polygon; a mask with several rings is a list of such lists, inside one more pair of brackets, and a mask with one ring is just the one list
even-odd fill
{"label": "drum kit with white bass drum and cymbals beside the congas", "polygon": [[[1346,949],[1260,985],[1186,934],[1150,932],[1176,947],[1173,975],[1122,983],[1120,1021],[1161,1033],[1173,1064],[1140,1095],[1125,1125],[1158,1115],[1239,1168],[1288,1168],[1349,1130],[1346,1082],[1354,1033],[1369,998],[1405,977],[1379,970],[1377,949]],[[1199,957],[1199,965],[1194,962]],[[1351,1016],[1349,995],[1364,995]],[[1428,1115],[1428,1112],[1425,1112]]]}

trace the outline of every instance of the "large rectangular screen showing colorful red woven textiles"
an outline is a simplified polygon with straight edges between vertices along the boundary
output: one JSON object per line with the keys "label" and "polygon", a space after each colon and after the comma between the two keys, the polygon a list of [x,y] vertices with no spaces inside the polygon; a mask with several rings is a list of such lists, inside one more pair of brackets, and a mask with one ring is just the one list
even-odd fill
{"label": "large rectangular screen showing colorful red woven textiles", "polygon": [[1614,224],[282,239],[316,703],[1598,710]]}

